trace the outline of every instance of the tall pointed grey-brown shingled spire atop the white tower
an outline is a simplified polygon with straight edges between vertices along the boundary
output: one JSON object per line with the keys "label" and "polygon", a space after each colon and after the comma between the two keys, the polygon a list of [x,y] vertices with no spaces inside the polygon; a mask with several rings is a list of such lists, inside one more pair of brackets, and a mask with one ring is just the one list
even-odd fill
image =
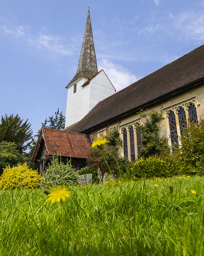
{"label": "tall pointed grey-brown shingled spire atop the white tower", "polygon": [[[84,31],[84,39],[82,43],[82,50],[79,58],[77,73],[69,84],[74,83],[78,78],[84,76],[86,78],[91,78],[98,72],[96,63],[96,54],[93,44],[93,35],[91,29],[91,18],[88,11],[86,27]],[[69,85],[68,84],[68,85]]]}

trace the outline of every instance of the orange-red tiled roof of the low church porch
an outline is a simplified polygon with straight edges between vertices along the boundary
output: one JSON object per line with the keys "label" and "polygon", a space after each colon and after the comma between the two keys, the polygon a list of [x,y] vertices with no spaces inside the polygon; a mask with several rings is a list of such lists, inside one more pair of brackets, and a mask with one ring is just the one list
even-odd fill
{"label": "orange-red tiled roof of the low church porch", "polygon": [[58,153],[61,156],[87,158],[91,149],[91,140],[87,134],[66,132],[42,127],[33,154],[34,161],[42,138],[49,155]]}

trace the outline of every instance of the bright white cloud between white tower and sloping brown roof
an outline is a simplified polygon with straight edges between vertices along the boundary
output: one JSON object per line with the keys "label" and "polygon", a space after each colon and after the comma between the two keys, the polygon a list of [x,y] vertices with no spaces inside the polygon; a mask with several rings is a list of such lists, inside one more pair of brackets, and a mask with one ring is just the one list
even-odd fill
{"label": "bright white cloud between white tower and sloping brown roof", "polygon": [[141,77],[131,74],[127,69],[119,64],[113,64],[111,61],[102,59],[98,62],[98,70],[103,69],[115,87],[116,91],[120,91],[126,86],[136,82]]}

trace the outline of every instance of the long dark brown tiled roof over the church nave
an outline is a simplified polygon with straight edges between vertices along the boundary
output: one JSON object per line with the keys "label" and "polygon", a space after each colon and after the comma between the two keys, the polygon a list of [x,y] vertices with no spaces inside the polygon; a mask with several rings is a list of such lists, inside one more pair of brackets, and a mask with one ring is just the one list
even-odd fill
{"label": "long dark brown tiled roof over the church nave", "polygon": [[67,131],[86,132],[204,79],[204,44],[102,100]]}

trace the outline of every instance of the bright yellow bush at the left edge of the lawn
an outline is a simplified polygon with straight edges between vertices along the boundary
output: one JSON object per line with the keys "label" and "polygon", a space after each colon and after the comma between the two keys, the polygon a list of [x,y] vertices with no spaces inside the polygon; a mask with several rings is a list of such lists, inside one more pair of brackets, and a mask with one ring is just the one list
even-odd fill
{"label": "bright yellow bush at the left edge of the lawn", "polygon": [[40,175],[37,171],[30,169],[26,163],[12,168],[7,166],[3,170],[0,177],[0,189],[2,190],[40,187]]}

